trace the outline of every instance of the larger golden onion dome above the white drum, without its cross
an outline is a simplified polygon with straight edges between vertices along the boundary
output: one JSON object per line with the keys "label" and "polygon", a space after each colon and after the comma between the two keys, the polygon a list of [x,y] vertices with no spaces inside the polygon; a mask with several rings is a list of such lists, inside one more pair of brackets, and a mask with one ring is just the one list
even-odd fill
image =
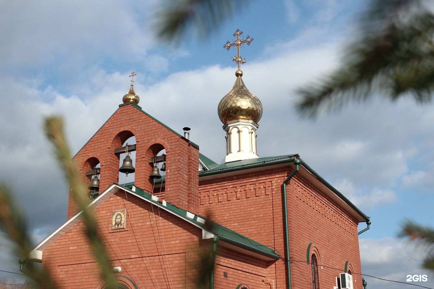
{"label": "larger golden onion dome above the white drum, without its cross", "polygon": [[244,84],[243,71],[235,72],[237,80],[233,88],[218,104],[218,115],[222,123],[230,120],[253,120],[258,123],[262,117],[262,104],[256,95],[251,93]]}

